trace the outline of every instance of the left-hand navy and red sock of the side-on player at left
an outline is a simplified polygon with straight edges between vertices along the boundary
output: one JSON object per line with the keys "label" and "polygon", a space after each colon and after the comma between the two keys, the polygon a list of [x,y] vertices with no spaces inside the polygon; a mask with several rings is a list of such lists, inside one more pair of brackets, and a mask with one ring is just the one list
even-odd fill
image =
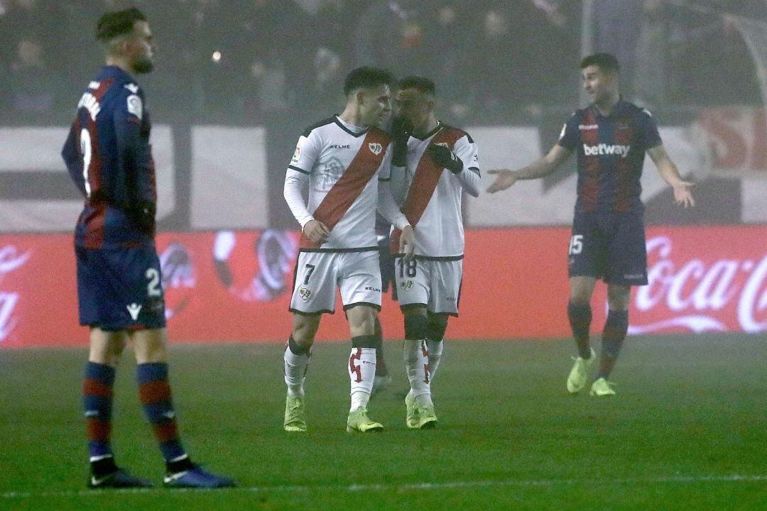
{"label": "left-hand navy and red sock of the side-on player at left", "polygon": [[[106,364],[88,362],[83,379],[83,408],[88,437],[88,453],[91,463],[98,467],[114,465],[112,461],[112,387],[114,386],[114,367]],[[106,461],[106,460],[109,461]],[[105,460],[97,463],[99,460]],[[104,470],[100,470],[104,472]],[[107,470],[108,472],[108,470]],[[101,474],[97,474],[101,475]]]}

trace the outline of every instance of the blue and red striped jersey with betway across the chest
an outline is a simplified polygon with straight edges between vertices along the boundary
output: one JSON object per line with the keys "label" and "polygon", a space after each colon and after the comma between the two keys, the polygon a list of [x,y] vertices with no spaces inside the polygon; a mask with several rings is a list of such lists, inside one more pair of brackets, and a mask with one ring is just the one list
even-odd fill
{"label": "blue and red striped jersey with betway across the chest", "polygon": [[573,113],[558,144],[578,151],[575,211],[642,211],[644,153],[662,143],[650,112],[627,101],[608,116],[594,105]]}

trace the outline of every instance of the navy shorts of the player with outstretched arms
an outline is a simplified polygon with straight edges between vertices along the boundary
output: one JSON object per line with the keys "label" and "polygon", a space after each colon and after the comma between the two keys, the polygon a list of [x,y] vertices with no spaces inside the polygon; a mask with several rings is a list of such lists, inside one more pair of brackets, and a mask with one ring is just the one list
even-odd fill
{"label": "navy shorts of the player with outstretched arms", "polygon": [[568,250],[570,277],[647,285],[647,246],[641,213],[578,213]]}

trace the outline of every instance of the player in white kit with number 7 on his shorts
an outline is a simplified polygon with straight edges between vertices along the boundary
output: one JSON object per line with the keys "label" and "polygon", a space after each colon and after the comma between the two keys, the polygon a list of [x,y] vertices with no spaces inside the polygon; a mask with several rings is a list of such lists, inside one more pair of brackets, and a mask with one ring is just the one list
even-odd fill
{"label": "player in white kit with number 7 on his shorts", "polygon": [[[321,315],[334,313],[336,286],[352,344],[347,431],[383,428],[367,415],[376,372],[374,325],[381,303],[376,210],[403,229],[400,251],[409,257],[413,252],[413,227],[389,187],[391,139],[376,127],[390,113],[392,81],[386,70],[352,70],[344,83],[344,112],[304,131],[285,173],[285,201],[301,224],[290,305],[293,332],[285,347],[285,431],[307,429],[304,375]],[[308,205],[301,195],[305,185]]]}

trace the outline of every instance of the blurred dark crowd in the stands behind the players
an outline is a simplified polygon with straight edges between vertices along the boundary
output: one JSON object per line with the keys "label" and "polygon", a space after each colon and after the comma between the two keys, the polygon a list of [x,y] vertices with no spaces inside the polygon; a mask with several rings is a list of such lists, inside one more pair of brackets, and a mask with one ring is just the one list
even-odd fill
{"label": "blurred dark crowd in the stands behind the players", "polygon": [[[694,3],[767,20],[765,0]],[[68,123],[103,60],[97,18],[127,6],[155,34],[156,72],[140,83],[157,122],[309,123],[341,107],[344,75],[360,64],[432,77],[459,124],[525,123],[578,101],[579,0],[0,0],[2,124]],[[593,19],[594,45],[621,60],[629,99],[761,103],[726,18],[597,0]]]}

